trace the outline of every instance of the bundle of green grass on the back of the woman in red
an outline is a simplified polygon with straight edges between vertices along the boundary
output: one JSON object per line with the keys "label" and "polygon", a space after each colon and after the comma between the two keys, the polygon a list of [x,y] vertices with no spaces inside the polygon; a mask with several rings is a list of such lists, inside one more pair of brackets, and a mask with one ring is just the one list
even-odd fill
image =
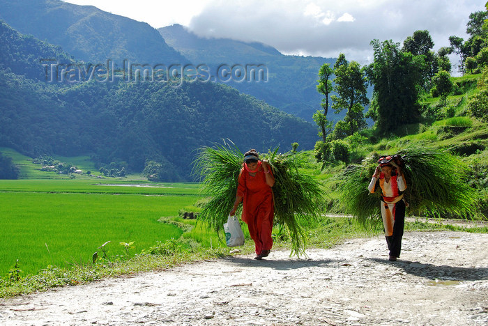
{"label": "bundle of green grass on the back of the woman in red", "polygon": [[[277,153],[278,148],[266,155],[273,169],[275,185],[275,224],[287,231],[291,240],[291,255],[305,254],[307,237],[302,222],[317,219],[324,206],[323,187],[312,176],[298,171],[310,165],[302,152]],[[236,199],[238,176],[243,166],[243,153],[233,143],[202,148],[195,168],[203,179],[202,191],[208,197],[200,219],[220,231]]]}

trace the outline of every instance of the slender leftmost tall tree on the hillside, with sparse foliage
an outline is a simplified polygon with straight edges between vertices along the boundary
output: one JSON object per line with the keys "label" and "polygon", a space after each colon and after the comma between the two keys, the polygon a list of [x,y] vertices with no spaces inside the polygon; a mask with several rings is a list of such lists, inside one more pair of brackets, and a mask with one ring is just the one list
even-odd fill
{"label": "slender leftmost tall tree on the hillside, with sparse foliage", "polygon": [[320,70],[319,70],[319,84],[317,85],[317,91],[325,95],[325,98],[322,99],[322,109],[323,113],[320,110],[314,114],[313,118],[315,123],[320,128],[319,135],[322,137],[323,142],[326,142],[327,134],[332,129],[332,121],[327,120],[327,113],[329,108],[329,94],[332,92],[332,81],[330,81],[330,77],[333,75],[334,70],[330,68],[328,63],[324,63]]}

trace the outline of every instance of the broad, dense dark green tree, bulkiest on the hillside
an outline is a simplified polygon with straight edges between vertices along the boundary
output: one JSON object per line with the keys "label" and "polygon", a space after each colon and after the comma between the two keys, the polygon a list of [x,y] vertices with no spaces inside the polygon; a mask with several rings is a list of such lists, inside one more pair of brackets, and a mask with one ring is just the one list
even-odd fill
{"label": "broad, dense dark green tree, bulkiest on the hillside", "polygon": [[418,121],[420,117],[417,85],[420,72],[413,55],[402,52],[392,40],[372,40],[374,62],[367,67],[367,76],[374,85],[372,107],[376,109],[376,125],[383,134],[397,127]]}

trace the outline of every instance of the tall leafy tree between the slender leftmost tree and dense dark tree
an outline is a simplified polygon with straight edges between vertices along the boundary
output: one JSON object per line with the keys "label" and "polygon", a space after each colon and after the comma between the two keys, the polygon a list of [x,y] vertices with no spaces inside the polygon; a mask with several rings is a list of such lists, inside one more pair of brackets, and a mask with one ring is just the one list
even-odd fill
{"label": "tall leafy tree between the slender leftmost tree and dense dark tree", "polygon": [[364,106],[369,104],[366,96],[367,79],[365,73],[356,61],[346,61],[346,56],[340,54],[334,65],[335,86],[337,95],[332,95],[332,108],[335,113],[346,109],[343,121],[337,122],[334,134],[337,138],[352,135],[366,127]]}

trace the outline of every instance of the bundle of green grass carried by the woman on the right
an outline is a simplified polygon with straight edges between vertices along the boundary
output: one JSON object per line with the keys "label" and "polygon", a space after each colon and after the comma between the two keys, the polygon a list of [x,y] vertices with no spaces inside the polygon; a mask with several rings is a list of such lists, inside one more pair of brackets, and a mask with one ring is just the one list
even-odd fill
{"label": "bundle of green grass carried by the woman on the right", "polygon": [[[458,218],[477,215],[478,194],[468,185],[468,168],[457,157],[445,150],[418,146],[401,150],[398,155],[404,162],[407,213]],[[379,156],[373,154],[362,164],[348,166],[340,176],[344,211],[357,217],[365,226],[381,223],[381,189],[376,189],[374,194],[367,189]]]}

